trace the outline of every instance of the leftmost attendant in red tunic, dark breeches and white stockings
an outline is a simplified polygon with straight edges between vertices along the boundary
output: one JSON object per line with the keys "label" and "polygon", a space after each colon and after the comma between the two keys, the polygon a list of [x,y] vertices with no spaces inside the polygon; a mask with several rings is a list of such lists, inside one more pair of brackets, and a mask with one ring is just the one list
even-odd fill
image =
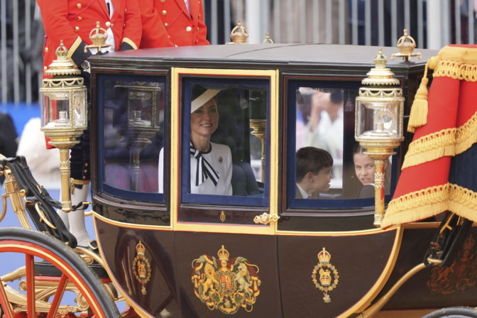
{"label": "leftmost attendant in red tunic, dark breeches and white stockings", "polygon": [[[96,53],[86,51],[92,44],[89,33],[99,26],[106,30],[106,43],[113,45],[106,50],[137,49],[141,43],[141,12],[137,0],[37,0],[45,28],[43,70],[47,70],[56,58],[55,50],[62,40],[68,49],[68,57],[82,70],[84,84],[89,89],[89,62],[87,57]],[[79,144],[71,150],[71,177],[75,188],[71,201],[75,206],[87,201],[89,193],[89,129],[79,138]],[[65,214],[58,211],[79,246],[96,249],[84,225],[84,209]]]}

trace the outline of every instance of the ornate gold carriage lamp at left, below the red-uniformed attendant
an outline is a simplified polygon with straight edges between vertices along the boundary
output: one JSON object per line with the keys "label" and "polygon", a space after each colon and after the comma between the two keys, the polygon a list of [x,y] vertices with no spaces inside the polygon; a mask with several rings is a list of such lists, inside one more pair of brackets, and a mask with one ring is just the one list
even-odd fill
{"label": "ornate gold carriage lamp at left, below the red-uniformed attendant", "polygon": [[63,211],[70,212],[70,149],[87,128],[87,89],[63,41],[55,54],[56,60],[45,71],[53,77],[43,79],[40,88],[41,131],[60,150],[61,204]]}

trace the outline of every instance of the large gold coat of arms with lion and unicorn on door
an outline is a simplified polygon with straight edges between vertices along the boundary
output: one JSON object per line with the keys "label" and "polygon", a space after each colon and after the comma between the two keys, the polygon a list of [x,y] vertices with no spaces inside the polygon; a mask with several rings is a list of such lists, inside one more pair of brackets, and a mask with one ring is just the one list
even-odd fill
{"label": "large gold coat of arms with lion and unicorn on door", "polygon": [[222,245],[217,258],[202,255],[192,261],[194,294],[210,310],[235,314],[242,307],[251,312],[260,295],[258,266],[241,256],[229,256],[229,251]]}

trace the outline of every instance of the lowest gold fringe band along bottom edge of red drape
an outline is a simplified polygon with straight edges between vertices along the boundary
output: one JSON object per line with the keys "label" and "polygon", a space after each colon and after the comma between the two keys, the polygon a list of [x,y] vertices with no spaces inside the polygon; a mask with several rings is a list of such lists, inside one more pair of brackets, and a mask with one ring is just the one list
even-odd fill
{"label": "lowest gold fringe band along bottom edge of red drape", "polygon": [[389,203],[381,227],[426,219],[448,210],[476,222],[477,192],[446,183],[405,194]]}

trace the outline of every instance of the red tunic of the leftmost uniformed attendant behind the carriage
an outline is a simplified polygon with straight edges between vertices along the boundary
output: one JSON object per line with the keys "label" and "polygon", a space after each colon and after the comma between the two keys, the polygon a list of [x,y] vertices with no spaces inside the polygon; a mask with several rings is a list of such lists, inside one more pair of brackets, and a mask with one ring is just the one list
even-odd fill
{"label": "red tunic of the leftmost uniformed attendant behind the carriage", "polygon": [[[77,66],[92,53],[84,53],[84,46],[91,44],[89,33],[100,26],[111,28],[114,50],[138,48],[141,43],[141,12],[137,0],[111,0],[113,15],[105,0],[37,0],[45,28],[43,67],[55,59],[55,50],[63,40],[68,56]],[[112,43],[110,43],[112,44]]]}

